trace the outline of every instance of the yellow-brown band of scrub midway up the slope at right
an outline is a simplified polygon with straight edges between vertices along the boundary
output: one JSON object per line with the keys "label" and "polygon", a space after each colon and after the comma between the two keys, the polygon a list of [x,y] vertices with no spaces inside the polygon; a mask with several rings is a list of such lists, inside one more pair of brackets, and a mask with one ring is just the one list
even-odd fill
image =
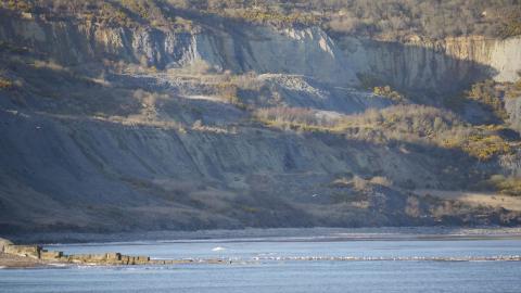
{"label": "yellow-brown band of scrub midway up the slope at right", "polygon": [[512,151],[500,136],[500,127],[471,126],[450,112],[422,105],[397,105],[340,116],[309,109],[279,106],[259,109],[254,115],[276,128],[342,133],[346,139],[378,144],[407,142],[459,149],[480,161]]}

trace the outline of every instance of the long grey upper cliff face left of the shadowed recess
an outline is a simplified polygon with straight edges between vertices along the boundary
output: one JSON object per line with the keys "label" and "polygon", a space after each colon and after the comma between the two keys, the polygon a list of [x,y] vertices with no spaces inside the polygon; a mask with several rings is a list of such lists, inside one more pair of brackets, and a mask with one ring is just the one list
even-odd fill
{"label": "long grey upper cliff face left of the shadowed recess", "polygon": [[357,82],[342,51],[318,27],[245,25],[238,30],[224,25],[176,33],[11,18],[2,21],[0,39],[34,48],[66,65],[109,59],[162,69],[202,61],[217,71],[291,73],[344,86]]}

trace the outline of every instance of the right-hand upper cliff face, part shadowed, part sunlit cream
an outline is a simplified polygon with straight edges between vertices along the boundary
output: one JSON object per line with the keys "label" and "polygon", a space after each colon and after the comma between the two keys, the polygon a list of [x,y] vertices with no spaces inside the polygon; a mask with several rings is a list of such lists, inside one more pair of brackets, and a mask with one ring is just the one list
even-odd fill
{"label": "right-hand upper cliff face, part shadowed, part sunlit cream", "polygon": [[481,36],[407,42],[345,37],[338,40],[355,72],[396,88],[443,93],[494,78],[516,81],[521,69],[521,38]]}

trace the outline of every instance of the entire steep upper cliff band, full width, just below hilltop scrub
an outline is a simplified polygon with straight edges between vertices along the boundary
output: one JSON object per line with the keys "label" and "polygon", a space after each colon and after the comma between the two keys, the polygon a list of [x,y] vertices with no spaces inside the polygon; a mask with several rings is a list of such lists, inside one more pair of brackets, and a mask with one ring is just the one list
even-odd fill
{"label": "entire steep upper cliff band, full width, just below hilltop scrub", "polygon": [[398,89],[433,93],[454,92],[486,78],[516,81],[521,69],[520,37],[333,40],[318,27],[244,25],[238,30],[228,26],[179,33],[104,27],[90,22],[7,18],[2,20],[0,39],[36,48],[69,65],[103,58],[157,68],[203,61],[217,71],[291,73],[348,86],[357,85],[356,75],[361,74]]}

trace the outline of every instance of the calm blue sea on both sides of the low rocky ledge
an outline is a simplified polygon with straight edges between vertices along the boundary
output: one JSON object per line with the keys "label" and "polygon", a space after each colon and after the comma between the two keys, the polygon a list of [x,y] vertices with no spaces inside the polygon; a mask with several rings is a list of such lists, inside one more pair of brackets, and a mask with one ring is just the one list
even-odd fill
{"label": "calm blue sea on both sides of the low rocky ledge", "polygon": [[[226,265],[1,269],[0,292],[521,292],[519,262],[331,262],[277,257],[521,255],[521,240],[176,241],[53,245]],[[275,259],[274,259],[275,258]]]}

